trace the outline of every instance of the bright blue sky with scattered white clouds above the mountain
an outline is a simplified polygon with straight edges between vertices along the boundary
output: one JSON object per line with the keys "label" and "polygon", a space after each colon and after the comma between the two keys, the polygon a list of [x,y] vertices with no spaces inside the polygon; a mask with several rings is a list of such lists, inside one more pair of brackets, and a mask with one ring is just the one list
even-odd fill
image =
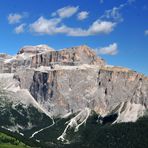
{"label": "bright blue sky with scattered white clouds above the mountain", "polygon": [[87,45],[109,65],[148,75],[147,0],[0,0],[0,53]]}

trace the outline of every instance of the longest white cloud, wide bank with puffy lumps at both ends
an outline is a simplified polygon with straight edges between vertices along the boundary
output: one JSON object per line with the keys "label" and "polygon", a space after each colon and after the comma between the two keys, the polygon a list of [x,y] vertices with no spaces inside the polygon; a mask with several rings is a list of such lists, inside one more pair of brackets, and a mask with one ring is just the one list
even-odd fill
{"label": "longest white cloud, wide bank with puffy lumps at both ends", "polygon": [[72,28],[61,23],[62,19],[46,19],[40,17],[30,25],[30,31],[37,34],[66,34],[68,36],[90,36],[96,34],[107,34],[113,31],[116,23],[96,20],[88,29]]}

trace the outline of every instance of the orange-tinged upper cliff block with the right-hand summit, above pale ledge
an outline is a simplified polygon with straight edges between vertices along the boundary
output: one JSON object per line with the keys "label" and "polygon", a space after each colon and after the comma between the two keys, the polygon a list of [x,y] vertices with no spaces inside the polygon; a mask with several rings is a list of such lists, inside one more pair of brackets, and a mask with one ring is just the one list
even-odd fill
{"label": "orange-tinged upper cliff block with the right-hand summit, above pale ledge", "polygon": [[51,66],[51,65],[105,65],[104,60],[98,58],[94,51],[87,46],[78,46],[51,51],[49,53],[37,54],[32,57],[31,67]]}

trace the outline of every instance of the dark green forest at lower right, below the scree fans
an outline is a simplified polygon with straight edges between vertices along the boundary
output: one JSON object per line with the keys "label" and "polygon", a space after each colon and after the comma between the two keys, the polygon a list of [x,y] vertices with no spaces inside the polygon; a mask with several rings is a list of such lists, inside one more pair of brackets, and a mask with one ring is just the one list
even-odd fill
{"label": "dark green forest at lower right, below the scree fans", "polygon": [[148,148],[148,118],[98,126],[90,120],[79,134],[81,140],[71,144],[71,148]]}

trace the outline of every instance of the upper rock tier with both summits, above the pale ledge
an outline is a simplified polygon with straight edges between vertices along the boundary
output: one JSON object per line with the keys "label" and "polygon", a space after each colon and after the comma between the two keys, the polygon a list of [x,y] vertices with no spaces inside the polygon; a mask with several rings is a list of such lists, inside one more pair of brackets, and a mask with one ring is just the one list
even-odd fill
{"label": "upper rock tier with both summits, above the pale ledge", "polygon": [[38,68],[54,65],[105,65],[105,61],[96,56],[95,52],[87,46],[78,46],[54,51],[46,45],[25,46],[14,57],[3,60],[2,71],[14,73],[20,68]]}

